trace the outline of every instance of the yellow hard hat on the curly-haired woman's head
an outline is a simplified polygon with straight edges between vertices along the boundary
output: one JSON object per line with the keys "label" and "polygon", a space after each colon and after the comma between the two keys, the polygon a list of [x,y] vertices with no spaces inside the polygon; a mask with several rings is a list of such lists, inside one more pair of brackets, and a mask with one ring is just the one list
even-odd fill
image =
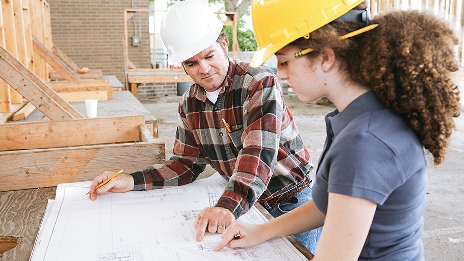
{"label": "yellow hard hat on the curly-haired woman's head", "polygon": [[250,63],[260,66],[292,41],[344,15],[364,0],[252,0],[251,18],[258,50]]}

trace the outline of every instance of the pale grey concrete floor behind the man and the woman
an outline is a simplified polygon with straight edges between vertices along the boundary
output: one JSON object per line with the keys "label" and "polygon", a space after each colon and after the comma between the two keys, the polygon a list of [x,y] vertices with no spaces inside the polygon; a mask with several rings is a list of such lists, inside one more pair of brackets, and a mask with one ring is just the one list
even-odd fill
{"label": "pale grey concrete floor behind the man and the woman", "polygon": [[[142,101],[159,121],[159,137],[166,143],[166,157],[172,156],[179,96]],[[295,94],[285,95],[303,141],[317,163],[325,141],[324,116],[331,106],[301,103]],[[462,100],[463,101],[463,100]],[[464,114],[464,106],[462,115]],[[425,260],[464,261],[464,116],[456,119],[444,163],[429,166],[425,228],[422,236]],[[428,157],[429,162],[431,157]],[[201,177],[215,171],[207,167]],[[315,172],[314,172],[315,173]]]}

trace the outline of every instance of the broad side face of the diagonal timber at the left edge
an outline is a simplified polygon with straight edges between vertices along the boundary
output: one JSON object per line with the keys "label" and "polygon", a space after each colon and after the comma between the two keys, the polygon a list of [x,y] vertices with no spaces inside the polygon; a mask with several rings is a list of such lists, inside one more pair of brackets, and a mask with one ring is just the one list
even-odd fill
{"label": "broad side face of the diagonal timber at the left edge", "polygon": [[[3,48],[0,47],[0,49]],[[4,56],[0,56],[0,68],[0,78],[23,94],[45,116],[51,120],[73,118],[69,112],[53,101],[34,82],[5,60]]]}

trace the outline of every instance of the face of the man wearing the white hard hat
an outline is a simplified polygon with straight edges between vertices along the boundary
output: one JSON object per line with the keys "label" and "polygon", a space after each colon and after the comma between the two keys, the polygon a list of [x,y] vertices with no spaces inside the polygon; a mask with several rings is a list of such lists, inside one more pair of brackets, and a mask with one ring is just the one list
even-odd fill
{"label": "face of the man wearing the white hard hat", "polygon": [[182,63],[185,72],[196,84],[206,91],[212,92],[222,86],[229,68],[227,59],[227,43],[223,38],[221,44],[213,45]]}

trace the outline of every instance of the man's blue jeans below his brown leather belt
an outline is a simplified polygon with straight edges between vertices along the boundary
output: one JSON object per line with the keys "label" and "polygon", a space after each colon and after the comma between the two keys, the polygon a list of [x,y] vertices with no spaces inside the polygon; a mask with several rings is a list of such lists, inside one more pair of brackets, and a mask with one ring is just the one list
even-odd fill
{"label": "man's blue jeans below his brown leather belt", "polygon": [[[307,179],[311,179],[309,175],[306,177]],[[295,185],[298,186],[298,185]],[[292,189],[293,187],[289,187],[286,191]],[[271,208],[267,202],[263,204],[263,207],[266,208],[266,210],[274,216],[274,218],[277,218],[278,216],[281,216],[303,204],[308,202],[309,200],[312,199],[312,186],[313,183],[307,187],[305,187],[302,191],[298,192],[297,194],[294,195],[298,199],[298,203],[289,203],[289,202],[281,202],[278,203],[275,207]],[[283,193],[285,193],[284,191]],[[312,254],[316,254],[316,246],[317,242],[319,242],[319,236],[322,233],[322,227],[319,227],[317,229],[303,232],[300,234],[296,234],[295,237],[302,243]]]}

